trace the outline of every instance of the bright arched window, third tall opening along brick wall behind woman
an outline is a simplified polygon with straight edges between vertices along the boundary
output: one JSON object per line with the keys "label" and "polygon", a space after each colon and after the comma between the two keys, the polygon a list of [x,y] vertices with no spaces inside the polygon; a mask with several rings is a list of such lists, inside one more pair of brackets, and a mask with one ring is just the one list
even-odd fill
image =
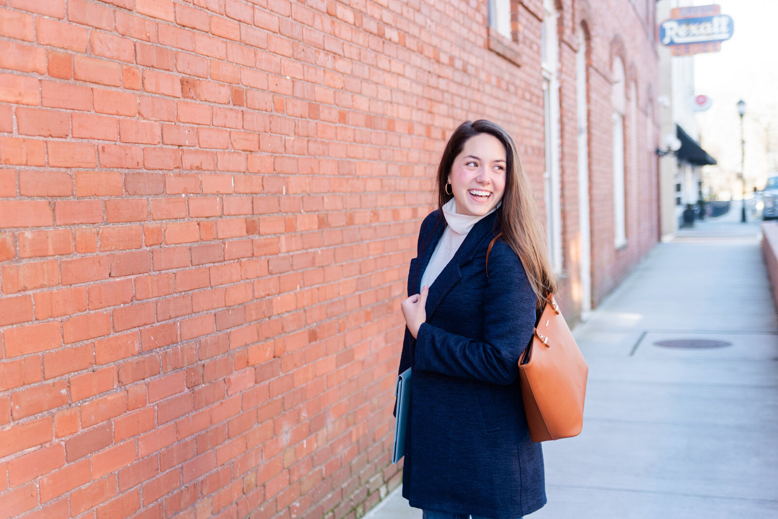
{"label": "bright arched window, third tall opening along brick wall behind woman", "polygon": [[613,59],[613,85],[611,92],[613,134],[613,229],[614,246],[626,245],[626,207],[624,200],[624,113],[626,89],[624,64],[620,57]]}

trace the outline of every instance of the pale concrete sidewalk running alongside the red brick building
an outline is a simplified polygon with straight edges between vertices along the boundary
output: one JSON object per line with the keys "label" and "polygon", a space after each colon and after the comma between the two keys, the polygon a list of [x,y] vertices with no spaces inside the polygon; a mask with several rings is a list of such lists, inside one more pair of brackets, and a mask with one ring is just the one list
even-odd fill
{"label": "pale concrete sidewalk running alongside the red brick building", "polygon": [[[528,517],[778,517],[778,323],[759,222],[738,218],[658,244],[576,328],[584,431],[543,444],[548,504]],[[396,489],[366,517],[422,514]]]}

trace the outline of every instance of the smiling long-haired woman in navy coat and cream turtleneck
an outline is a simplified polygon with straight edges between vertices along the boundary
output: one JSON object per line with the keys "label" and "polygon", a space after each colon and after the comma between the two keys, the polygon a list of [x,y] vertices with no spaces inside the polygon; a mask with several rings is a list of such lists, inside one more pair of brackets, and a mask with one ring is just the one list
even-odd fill
{"label": "smiling long-haired woman in navy coat and cream turtleneck", "polygon": [[401,303],[402,495],[424,519],[520,519],[545,504],[518,383],[541,294],[556,289],[545,233],[513,139],[488,120],[454,131],[437,186]]}

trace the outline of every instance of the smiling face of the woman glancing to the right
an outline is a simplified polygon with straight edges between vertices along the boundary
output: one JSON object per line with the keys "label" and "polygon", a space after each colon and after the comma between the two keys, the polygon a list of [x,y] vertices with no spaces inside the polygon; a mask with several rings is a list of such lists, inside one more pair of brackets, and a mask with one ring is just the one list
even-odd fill
{"label": "smiling face of the woman glancing to the right", "polygon": [[483,216],[503,199],[506,181],[505,147],[490,134],[464,142],[448,176],[458,214]]}

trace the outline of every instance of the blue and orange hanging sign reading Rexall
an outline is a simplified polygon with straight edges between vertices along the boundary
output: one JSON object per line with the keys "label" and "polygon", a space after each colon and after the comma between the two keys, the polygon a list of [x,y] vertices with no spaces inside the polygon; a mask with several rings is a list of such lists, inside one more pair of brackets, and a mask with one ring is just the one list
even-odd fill
{"label": "blue and orange hanging sign reading Rexall", "polygon": [[657,27],[657,38],[673,56],[718,52],[734,31],[731,17],[721,14],[719,5],[676,7],[670,16]]}

